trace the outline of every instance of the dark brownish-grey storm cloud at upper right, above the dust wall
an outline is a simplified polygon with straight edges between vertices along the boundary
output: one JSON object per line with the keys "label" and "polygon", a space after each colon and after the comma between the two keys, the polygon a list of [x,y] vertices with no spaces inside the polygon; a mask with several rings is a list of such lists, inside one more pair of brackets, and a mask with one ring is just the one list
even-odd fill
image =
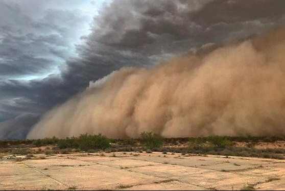
{"label": "dark brownish-grey storm cloud at upper right, above the dust wall", "polygon": [[[216,4],[219,6],[213,6]],[[96,52],[99,45],[108,54],[113,54],[114,49],[127,50],[129,55],[147,59],[165,53],[179,54],[195,45],[244,38],[273,27],[285,13],[283,4],[275,0],[114,1],[94,19],[97,27],[89,35],[88,49],[84,51]],[[263,11],[256,10],[259,8]]]}

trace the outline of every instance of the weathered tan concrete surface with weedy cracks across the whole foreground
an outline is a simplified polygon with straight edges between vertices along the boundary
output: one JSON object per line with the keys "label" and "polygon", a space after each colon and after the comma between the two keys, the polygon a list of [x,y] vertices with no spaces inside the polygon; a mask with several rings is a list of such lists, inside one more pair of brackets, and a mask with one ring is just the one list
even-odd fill
{"label": "weathered tan concrete surface with weedy cracks across the whole foreground", "polygon": [[285,189],[285,161],[161,153],[56,155],[0,161],[0,190]]}

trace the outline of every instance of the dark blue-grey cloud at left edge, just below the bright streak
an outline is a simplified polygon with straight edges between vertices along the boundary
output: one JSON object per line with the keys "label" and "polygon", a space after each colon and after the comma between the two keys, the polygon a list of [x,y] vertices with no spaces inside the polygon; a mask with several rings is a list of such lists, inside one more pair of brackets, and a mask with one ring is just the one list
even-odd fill
{"label": "dark blue-grey cloud at left edge, just below the bright streak", "polygon": [[9,80],[0,88],[1,109],[16,114],[43,113],[74,93],[56,75],[29,83]]}

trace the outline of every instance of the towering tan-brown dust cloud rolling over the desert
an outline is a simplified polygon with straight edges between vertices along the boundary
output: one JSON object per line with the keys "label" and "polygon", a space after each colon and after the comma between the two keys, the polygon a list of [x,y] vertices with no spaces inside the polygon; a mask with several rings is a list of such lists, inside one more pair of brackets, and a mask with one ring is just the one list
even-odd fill
{"label": "towering tan-brown dust cloud rolling over the desert", "polygon": [[125,67],[46,113],[28,138],[285,135],[285,29]]}

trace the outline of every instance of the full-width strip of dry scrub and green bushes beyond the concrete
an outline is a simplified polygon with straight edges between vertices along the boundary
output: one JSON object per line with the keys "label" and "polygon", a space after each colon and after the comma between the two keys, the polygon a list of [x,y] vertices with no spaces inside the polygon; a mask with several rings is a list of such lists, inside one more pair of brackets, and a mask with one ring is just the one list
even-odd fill
{"label": "full-width strip of dry scrub and green bushes beyond the concrete", "polygon": [[[267,144],[269,148],[260,149]],[[223,137],[161,138],[151,132],[141,133],[138,139],[109,139],[99,135],[81,135],[65,139],[0,141],[0,157],[4,154],[29,155],[69,154],[71,152],[142,152],[181,153],[182,155],[224,155],[284,159],[285,137]],[[264,146],[263,146],[264,147]],[[115,157],[115,154],[113,154]]]}

